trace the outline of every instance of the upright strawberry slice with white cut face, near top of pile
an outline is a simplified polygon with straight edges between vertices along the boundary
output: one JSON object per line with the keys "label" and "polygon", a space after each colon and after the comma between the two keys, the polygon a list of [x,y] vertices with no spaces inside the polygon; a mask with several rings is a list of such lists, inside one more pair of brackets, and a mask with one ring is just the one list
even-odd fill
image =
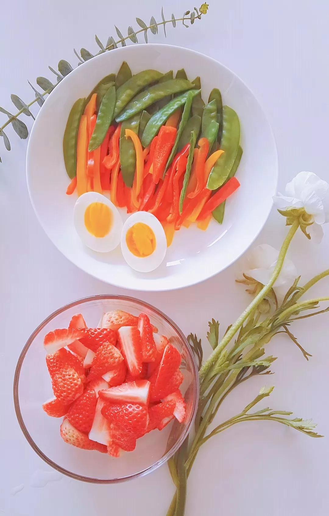
{"label": "upright strawberry slice with white cut face, near top of pile", "polygon": [[124,326],[118,329],[119,345],[132,376],[142,372],[141,336],[136,326]]}

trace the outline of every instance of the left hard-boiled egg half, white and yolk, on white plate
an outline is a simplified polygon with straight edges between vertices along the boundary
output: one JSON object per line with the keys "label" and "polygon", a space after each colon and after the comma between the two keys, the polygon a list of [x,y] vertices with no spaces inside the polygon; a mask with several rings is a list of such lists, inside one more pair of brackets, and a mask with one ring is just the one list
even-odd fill
{"label": "left hard-boiled egg half, white and yolk, on white plate", "polygon": [[93,251],[106,253],[119,245],[122,219],[114,204],[101,193],[83,193],[74,206],[75,229]]}

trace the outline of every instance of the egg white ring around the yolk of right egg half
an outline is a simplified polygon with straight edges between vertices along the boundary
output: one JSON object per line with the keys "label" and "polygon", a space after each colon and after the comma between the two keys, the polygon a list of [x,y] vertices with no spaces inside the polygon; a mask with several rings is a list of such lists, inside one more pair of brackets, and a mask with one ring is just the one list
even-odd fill
{"label": "egg white ring around the yolk of right egg half", "polygon": [[[127,231],[137,222],[147,224],[153,231],[156,240],[154,251],[152,254],[145,256],[144,258],[139,258],[132,254],[132,252],[129,251],[126,242]],[[138,272],[150,272],[151,270],[159,267],[167,252],[167,240],[164,229],[157,217],[154,217],[154,215],[148,212],[136,212],[130,215],[124,223],[122,230],[121,249],[127,264]]]}

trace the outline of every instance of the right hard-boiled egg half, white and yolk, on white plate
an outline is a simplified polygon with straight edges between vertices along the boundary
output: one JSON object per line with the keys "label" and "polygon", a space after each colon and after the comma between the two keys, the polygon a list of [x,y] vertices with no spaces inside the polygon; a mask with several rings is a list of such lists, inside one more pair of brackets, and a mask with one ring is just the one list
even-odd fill
{"label": "right hard-boiled egg half, white and yolk, on white plate", "polygon": [[159,220],[148,212],[136,212],[124,223],[121,236],[124,259],[138,272],[150,272],[163,262],[166,235]]}

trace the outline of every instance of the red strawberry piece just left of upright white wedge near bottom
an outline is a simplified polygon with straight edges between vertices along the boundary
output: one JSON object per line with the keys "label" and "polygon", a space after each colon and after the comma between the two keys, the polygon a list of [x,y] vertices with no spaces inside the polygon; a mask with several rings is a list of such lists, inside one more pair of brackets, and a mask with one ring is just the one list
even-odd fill
{"label": "red strawberry piece just left of upright white wedge near bottom", "polygon": [[85,391],[78,399],[76,399],[67,412],[67,419],[71,425],[80,432],[90,432],[95,410],[96,410],[96,393],[93,389]]}

